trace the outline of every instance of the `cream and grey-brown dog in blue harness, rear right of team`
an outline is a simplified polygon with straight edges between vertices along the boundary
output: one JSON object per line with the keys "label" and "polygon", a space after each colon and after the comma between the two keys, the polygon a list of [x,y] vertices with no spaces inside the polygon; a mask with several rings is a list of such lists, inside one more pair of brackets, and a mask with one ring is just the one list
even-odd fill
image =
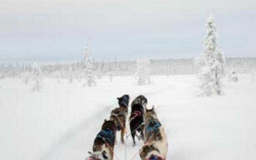
{"label": "cream and grey-brown dog in blue harness, rear right of team", "polygon": [[146,109],[144,123],[145,144],[140,148],[140,158],[142,160],[165,160],[168,142],[164,127],[156,116],[154,106],[152,109]]}

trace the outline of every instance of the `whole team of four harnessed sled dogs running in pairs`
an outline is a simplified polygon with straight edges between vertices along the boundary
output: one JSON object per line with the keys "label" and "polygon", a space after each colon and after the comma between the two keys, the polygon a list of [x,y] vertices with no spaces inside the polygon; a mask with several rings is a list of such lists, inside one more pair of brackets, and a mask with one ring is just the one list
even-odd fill
{"label": "whole team of four harnessed sled dogs running in pairs", "polygon": [[[89,152],[90,156],[85,160],[113,160],[117,131],[121,132],[120,141],[124,144],[130,97],[125,94],[117,100],[119,107],[111,111],[109,120],[104,120],[100,132],[94,139],[92,152]],[[166,134],[157,118],[154,106],[152,109],[147,109],[147,102],[145,96],[140,95],[131,104],[128,124],[130,124],[133,146],[136,145],[136,136],[138,140],[142,139],[144,142],[139,150],[141,160],[166,160],[168,150]]]}

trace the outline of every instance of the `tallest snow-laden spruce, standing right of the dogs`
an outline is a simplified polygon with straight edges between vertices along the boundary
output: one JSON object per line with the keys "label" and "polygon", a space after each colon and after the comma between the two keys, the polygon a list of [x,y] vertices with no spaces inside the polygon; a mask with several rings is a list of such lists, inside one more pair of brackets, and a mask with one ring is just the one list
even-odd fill
{"label": "tallest snow-laden spruce, standing right of the dogs", "polygon": [[224,56],[216,44],[216,26],[213,16],[207,19],[204,54],[196,58],[195,65],[199,70],[201,81],[199,96],[222,95],[220,78],[224,76]]}

